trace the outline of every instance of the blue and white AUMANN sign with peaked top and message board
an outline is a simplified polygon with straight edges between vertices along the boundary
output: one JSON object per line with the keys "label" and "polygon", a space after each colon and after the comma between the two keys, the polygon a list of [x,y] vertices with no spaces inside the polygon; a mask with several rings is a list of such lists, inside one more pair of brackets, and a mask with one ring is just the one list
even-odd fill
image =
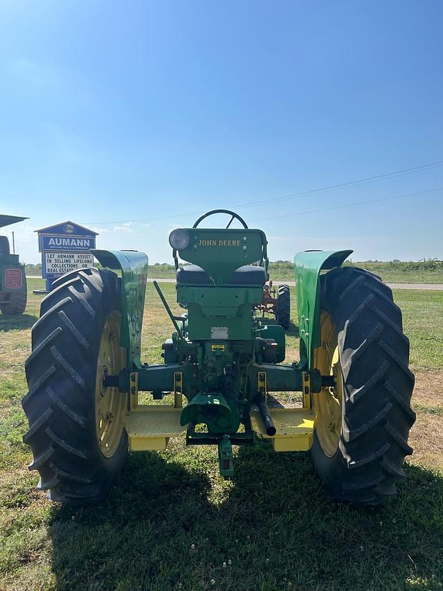
{"label": "blue and white AUMANN sign with peaked top and message board", "polygon": [[96,247],[97,232],[74,222],[62,222],[36,230],[39,252],[42,253],[42,277],[46,279],[46,292],[53,281],[76,269],[93,265],[91,249]]}

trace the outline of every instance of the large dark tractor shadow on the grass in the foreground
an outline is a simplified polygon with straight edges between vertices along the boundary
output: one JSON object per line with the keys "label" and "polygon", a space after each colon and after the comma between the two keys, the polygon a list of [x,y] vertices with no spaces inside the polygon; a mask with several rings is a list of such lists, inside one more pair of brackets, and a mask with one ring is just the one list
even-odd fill
{"label": "large dark tractor shadow on the grass in the foreground", "polygon": [[325,495],[308,454],[238,448],[228,482],[207,448],[171,457],[130,455],[107,500],[53,505],[57,589],[431,589],[443,576],[431,470],[406,465],[396,498],[355,509]]}

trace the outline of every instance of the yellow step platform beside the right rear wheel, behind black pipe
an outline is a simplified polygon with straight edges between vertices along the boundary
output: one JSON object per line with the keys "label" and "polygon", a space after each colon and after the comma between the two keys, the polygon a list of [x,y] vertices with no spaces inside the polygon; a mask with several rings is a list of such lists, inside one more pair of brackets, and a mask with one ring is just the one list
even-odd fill
{"label": "yellow step platform beside the right rear wheel, behind black pipe", "polygon": [[303,452],[311,449],[314,440],[315,415],[305,408],[270,408],[277,432],[269,436],[258,410],[251,411],[251,423],[255,432],[271,439],[276,452]]}

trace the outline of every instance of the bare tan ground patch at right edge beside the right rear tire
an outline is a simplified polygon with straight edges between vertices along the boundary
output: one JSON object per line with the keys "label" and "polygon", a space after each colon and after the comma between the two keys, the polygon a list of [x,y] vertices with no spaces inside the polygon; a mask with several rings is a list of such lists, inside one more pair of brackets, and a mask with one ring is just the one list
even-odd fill
{"label": "bare tan ground patch at right edge beside the right rear tire", "polygon": [[443,470],[443,416],[417,412],[408,443],[414,450],[410,464]]}

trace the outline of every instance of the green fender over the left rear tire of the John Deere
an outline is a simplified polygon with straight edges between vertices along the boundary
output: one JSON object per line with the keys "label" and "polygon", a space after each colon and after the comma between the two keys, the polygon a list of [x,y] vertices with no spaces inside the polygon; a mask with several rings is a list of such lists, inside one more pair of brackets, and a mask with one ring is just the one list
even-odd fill
{"label": "green fender over the left rear tire of the John Deere", "polygon": [[127,369],[141,366],[141,326],[145,308],[147,256],[132,250],[91,250],[103,267],[122,273],[120,345],[127,350]]}

